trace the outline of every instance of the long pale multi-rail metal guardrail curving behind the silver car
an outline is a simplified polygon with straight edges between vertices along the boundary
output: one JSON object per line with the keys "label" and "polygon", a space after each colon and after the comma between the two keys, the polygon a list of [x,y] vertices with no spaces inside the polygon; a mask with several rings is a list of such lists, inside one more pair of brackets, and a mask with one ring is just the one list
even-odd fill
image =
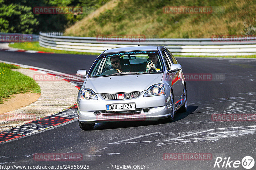
{"label": "long pale multi-rail metal guardrail curving behind the silver car", "polygon": [[[138,41],[115,38],[70,37],[62,33],[39,33],[39,44],[56,50],[102,53],[109,48],[134,46]],[[172,53],[181,55],[255,55],[256,37],[246,41],[214,41],[214,39],[143,39],[140,45],[164,45]]]}

